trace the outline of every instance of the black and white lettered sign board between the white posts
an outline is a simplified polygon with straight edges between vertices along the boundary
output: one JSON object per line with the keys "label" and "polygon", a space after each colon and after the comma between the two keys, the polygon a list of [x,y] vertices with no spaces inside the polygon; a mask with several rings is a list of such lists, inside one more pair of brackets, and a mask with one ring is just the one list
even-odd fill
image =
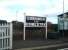
{"label": "black and white lettered sign board between the white posts", "polygon": [[27,26],[45,26],[46,17],[26,16]]}

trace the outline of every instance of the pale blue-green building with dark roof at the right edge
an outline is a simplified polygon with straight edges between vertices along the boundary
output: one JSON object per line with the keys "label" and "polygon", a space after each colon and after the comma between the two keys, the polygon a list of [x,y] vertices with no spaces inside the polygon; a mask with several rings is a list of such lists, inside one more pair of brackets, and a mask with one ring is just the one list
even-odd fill
{"label": "pale blue-green building with dark roof at the right edge", "polygon": [[58,31],[61,36],[68,37],[68,12],[58,15]]}

